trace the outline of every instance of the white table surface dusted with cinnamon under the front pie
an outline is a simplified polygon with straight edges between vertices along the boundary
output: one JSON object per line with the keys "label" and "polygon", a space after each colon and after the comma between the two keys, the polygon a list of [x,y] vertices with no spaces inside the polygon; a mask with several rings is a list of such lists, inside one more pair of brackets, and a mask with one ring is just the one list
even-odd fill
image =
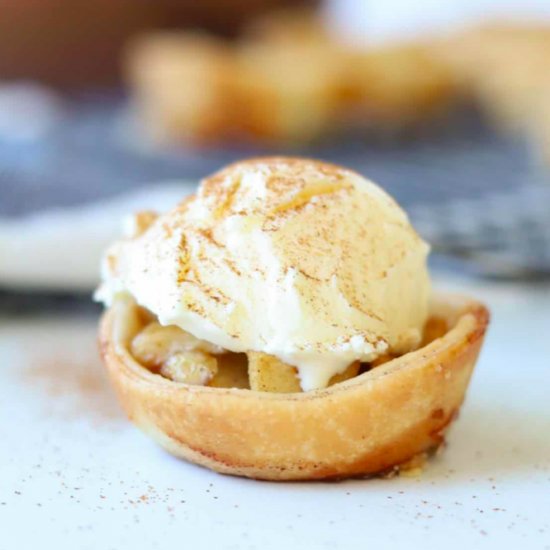
{"label": "white table surface dusted with cinnamon under the front pie", "polygon": [[449,446],[420,477],[389,480],[186,464],[119,412],[95,319],[1,318],[0,550],[550,549],[550,290],[469,290],[493,322]]}

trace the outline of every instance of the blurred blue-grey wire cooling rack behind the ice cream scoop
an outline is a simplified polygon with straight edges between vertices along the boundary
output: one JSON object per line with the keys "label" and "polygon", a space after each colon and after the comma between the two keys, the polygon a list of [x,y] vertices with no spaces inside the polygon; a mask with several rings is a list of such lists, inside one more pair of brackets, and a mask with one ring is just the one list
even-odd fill
{"label": "blurred blue-grey wire cooling rack behind the ice cream scoop", "polygon": [[[385,187],[432,243],[436,263],[505,278],[550,278],[550,177],[526,144],[475,113],[412,135],[351,136],[305,149],[158,151],[126,124],[124,100],[73,100],[47,132],[2,143],[0,216],[82,204],[150,181],[197,178],[236,159],[293,154],[341,163]],[[9,136],[8,136],[9,137]]]}

